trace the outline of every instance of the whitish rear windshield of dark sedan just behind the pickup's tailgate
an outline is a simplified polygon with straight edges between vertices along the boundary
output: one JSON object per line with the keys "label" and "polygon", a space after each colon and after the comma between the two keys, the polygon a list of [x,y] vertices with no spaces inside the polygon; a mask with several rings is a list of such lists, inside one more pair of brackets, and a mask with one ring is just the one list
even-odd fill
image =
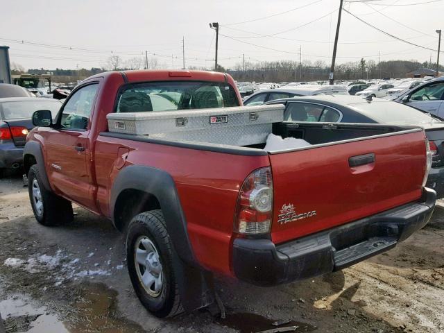
{"label": "whitish rear windshield of dark sedan just behind the pickup's tailgate", "polygon": [[392,101],[373,101],[371,103],[354,103],[351,107],[357,109],[367,117],[379,123],[391,125],[425,125],[430,123],[442,123],[444,121],[436,119],[427,113],[411,108],[408,105]]}

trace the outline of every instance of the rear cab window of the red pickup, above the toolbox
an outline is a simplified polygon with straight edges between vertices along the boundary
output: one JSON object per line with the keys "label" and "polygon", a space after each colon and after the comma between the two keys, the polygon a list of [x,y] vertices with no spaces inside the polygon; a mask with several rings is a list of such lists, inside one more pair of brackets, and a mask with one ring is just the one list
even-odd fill
{"label": "rear cab window of the red pickup, above the toolbox", "polygon": [[163,81],[128,85],[119,94],[116,112],[173,111],[239,106],[228,83]]}

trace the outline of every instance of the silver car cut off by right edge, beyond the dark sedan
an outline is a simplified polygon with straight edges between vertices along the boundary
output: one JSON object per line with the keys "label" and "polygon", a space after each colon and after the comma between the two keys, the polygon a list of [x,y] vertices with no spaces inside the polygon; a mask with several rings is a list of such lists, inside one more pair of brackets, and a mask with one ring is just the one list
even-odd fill
{"label": "silver car cut off by right edge, beyond the dark sedan", "polygon": [[393,101],[413,106],[444,118],[444,77],[429,80],[400,94]]}

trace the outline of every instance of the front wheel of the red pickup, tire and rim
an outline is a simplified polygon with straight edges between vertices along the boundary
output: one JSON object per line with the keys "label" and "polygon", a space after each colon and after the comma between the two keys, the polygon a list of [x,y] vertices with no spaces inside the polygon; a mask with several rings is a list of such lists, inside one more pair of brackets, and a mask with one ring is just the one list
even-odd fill
{"label": "front wheel of the red pickup, tire and rim", "polygon": [[71,201],[53,194],[44,187],[37,164],[34,164],[28,172],[28,192],[38,223],[51,227],[73,220]]}

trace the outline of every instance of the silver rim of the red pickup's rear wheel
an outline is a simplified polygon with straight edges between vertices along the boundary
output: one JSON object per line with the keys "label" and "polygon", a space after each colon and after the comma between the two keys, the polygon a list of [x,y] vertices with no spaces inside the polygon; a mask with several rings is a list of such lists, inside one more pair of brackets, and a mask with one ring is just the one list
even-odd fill
{"label": "silver rim of the red pickup's rear wheel", "polygon": [[151,297],[162,293],[163,268],[159,252],[153,242],[146,236],[139,237],[134,247],[134,262],[137,278]]}

